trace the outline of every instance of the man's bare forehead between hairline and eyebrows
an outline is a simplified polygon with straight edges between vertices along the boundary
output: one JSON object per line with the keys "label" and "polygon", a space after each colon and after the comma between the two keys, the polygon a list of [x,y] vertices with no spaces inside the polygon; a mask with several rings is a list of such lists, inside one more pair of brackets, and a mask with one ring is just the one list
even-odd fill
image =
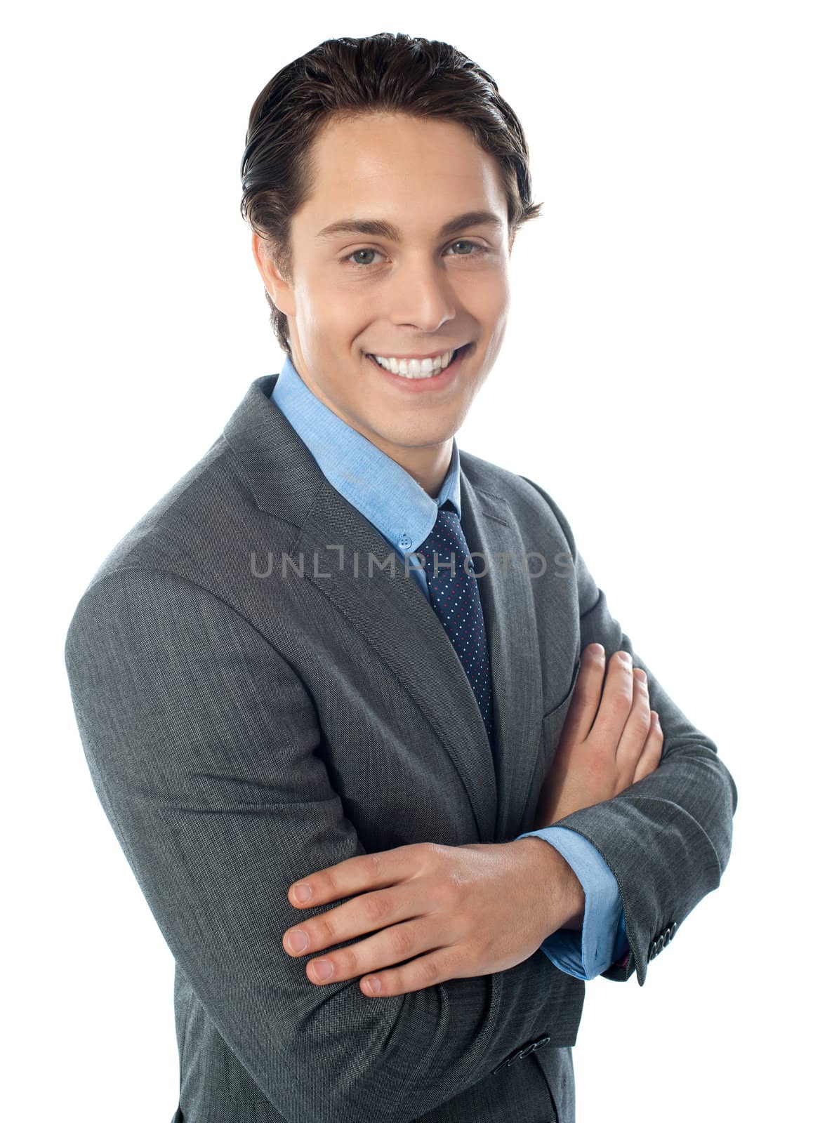
{"label": "man's bare forehead between hairline and eyebrows", "polygon": [[407,113],[332,118],[312,147],[313,181],[294,221],[306,234],[339,218],[383,217],[404,229],[464,211],[492,210],[505,222],[498,162],[457,121]]}

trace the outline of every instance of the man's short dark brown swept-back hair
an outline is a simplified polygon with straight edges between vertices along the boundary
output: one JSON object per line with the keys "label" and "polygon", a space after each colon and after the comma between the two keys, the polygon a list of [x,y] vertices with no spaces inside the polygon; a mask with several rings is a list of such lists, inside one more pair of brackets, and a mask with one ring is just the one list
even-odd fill
{"label": "man's short dark brown swept-back hair", "polygon": [[[308,198],[311,146],[329,119],[368,111],[443,117],[466,126],[499,162],[510,237],[543,203],[534,203],[529,149],[518,117],[495,80],[448,43],[402,33],[325,39],[283,66],[250,110],[242,158],[240,211],[292,280],[290,221]],[[291,355],[288,317],[265,292],[271,325]]]}

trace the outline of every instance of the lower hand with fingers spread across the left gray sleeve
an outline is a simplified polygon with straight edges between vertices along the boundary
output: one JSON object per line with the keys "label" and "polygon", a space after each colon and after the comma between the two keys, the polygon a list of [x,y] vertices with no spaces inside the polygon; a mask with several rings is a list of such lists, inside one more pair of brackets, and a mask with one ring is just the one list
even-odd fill
{"label": "lower hand with fingers spread across the left gray sleeve", "polygon": [[[295,887],[303,884],[312,892],[300,902]],[[373,932],[309,960],[306,974],[311,983],[366,976],[362,994],[386,998],[522,962],[573,913],[576,889],[583,893],[571,867],[540,839],[400,846],[348,858],[292,885],[288,898],[295,909],[359,896],[288,929],[282,946],[290,956],[313,955]],[[307,937],[303,948],[291,944],[295,932]],[[332,967],[330,975],[320,977],[321,962]],[[391,964],[401,967],[381,970]]]}

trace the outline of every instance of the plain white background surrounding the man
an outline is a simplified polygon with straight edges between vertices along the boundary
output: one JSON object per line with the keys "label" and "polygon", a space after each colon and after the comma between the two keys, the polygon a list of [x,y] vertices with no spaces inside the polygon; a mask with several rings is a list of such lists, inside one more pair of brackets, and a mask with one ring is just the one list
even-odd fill
{"label": "plain white background surrounding the man", "polygon": [[3,22],[4,1114],[176,1107],[173,960],[91,784],[65,630],[281,368],[238,209],[256,94],[321,39],[401,30],[496,79],[545,202],[459,447],[556,499],[739,792],[722,884],[646,985],[587,984],[578,1123],[809,1119],[816,6],[47,3]]}

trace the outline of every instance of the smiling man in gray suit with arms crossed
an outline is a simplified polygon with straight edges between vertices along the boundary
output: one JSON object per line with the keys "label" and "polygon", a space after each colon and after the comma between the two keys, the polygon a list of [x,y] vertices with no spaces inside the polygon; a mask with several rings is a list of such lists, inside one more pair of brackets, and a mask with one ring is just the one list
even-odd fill
{"label": "smiling man in gray suit with arms crossed", "polygon": [[244,185],[284,366],[66,641],[176,960],[174,1119],[570,1123],[583,980],[644,984],[737,792],[552,497],[456,447],[537,212],[520,126],[446,44],[329,40]]}

